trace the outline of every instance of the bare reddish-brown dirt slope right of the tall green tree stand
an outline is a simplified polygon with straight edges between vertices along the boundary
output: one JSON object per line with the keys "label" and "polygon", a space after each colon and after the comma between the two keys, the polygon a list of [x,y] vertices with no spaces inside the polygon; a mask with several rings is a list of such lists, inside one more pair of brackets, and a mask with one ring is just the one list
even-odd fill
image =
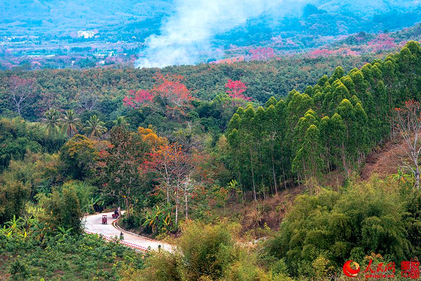
{"label": "bare reddish-brown dirt slope right of the tall green tree stand", "polygon": [[373,173],[388,176],[397,172],[402,159],[406,158],[406,147],[401,140],[389,141],[368,154],[366,165],[361,170],[361,179],[368,180]]}

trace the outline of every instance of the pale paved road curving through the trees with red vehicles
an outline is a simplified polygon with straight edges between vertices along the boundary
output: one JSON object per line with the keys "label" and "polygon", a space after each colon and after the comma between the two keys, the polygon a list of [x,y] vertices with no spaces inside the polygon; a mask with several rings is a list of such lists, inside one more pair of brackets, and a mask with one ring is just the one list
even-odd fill
{"label": "pale paved road curving through the trees with red vehicles", "polygon": [[[114,212],[109,213],[101,213],[101,214],[95,214],[86,216],[85,218],[85,230],[91,232],[91,233],[98,233],[102,234],[105,237],[114,237],[120,236],[120,230],[115,228],[114,225],[112,225],[112,222],[114,221],[111,217],[111,215],[114,214]],[[103,215],[107,216],[107,224],[102,224],[102,217]],[[126,243],[132,243],[134,245],[139,245],[144,248],[151,247],[153,250],[158,250],[158,245],[161,245],[161,249],[165,249],[167,251],[171,251],[172,247],[171,245],[164,243],[162,241],[150,239],[143,236],[138,236],[135,234],[130,234],[128,232],[123,231],[124,235],[124,242]],[[130,245],[130,244],[127,244]]]}

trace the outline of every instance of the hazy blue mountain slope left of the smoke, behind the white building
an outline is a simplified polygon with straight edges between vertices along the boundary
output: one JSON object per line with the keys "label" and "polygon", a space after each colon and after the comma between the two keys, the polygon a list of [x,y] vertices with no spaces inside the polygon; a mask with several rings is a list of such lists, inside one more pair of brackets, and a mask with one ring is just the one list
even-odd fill
{"label": "hazy blue mountain slope left of the smoke, behind the white building", "polygon": [[159,20],[171,11],[165,0],[6,0],[0,34],[68,36],[80,29],[117,32],[132,23]]}

